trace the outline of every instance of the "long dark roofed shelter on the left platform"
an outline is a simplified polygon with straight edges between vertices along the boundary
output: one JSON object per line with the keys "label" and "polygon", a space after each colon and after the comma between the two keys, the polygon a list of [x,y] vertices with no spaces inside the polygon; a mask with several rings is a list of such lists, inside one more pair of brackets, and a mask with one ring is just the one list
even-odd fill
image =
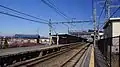
{"label": "long dark roofed shelter on the left platform", "polygon": [[59,35],[52,35],[52,40],[54,44],[57,44],[57,36],[59,37],[58,43],[59,44],[69,44],[69,43],[76,43],[76,42],[87,42],[87,39],[69,35],[69,34],[59,34]]}

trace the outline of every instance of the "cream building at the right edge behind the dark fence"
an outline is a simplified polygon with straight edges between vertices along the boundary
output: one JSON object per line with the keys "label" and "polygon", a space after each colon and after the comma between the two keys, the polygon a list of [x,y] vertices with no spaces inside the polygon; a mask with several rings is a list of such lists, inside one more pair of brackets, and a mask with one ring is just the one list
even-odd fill
{"label": "cream building at the right edge behind the dark fence", "polygon": [[105,22],[104,39],[112,45],[112,52],[119,52],[120,18],[110,18]]}

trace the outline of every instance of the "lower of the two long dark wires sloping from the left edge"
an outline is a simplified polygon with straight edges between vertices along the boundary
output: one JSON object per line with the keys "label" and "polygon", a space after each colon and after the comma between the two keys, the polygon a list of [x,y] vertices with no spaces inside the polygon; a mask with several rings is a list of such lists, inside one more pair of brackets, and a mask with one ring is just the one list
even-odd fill
{"label": "lower of the two long dark wires sloping from the left edge", "polygon": [[2,12],[2,11],[0,11],[0,13],[1,13],[1,14],[4,14],[4,15],[16,17],[16,18],[19,18],[19,19],[24,19],[24,20],[32,21],[32,22],[37,22],[37,23],[42,23],[42,24],[48,24],[48,23],[45,23],[45,22],[41,22],[41,21],[36,21],[36,20],[28,19],[28,18],[25,18],[25,17],[13,15],[13,14],[6,13],[6,12]]}

